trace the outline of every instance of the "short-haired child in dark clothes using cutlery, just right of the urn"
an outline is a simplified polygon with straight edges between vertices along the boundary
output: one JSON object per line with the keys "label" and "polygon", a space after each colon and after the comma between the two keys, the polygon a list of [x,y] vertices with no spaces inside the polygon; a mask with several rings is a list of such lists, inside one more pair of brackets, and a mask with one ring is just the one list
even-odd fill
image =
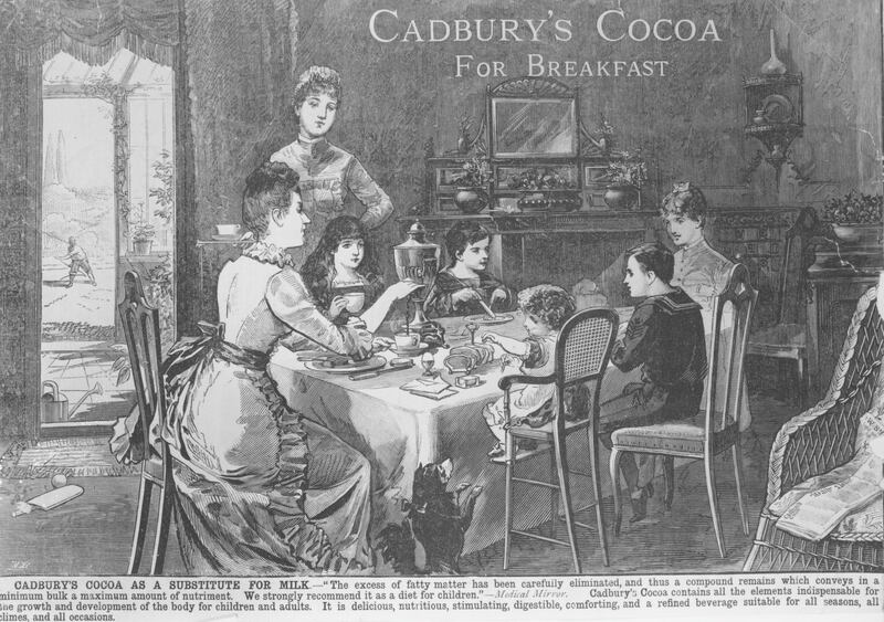
{"label": "short-haired child in dark clothes using cutlery, just right of the urn", "polygon": [[491,232],[472,220],[454,223],[445,233],[449,265],[439,271],[424,303],[432,317],[485,315],[514,308],[515,295],[488,271]]}

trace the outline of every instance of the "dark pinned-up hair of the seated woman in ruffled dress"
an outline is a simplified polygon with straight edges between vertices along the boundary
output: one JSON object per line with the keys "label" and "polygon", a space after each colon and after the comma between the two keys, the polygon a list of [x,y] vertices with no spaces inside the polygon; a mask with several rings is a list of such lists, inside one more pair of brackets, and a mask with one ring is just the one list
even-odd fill
{"label": "dark pinned-up hair of the seated woman in ruffled dress", "polygon": [[245,178],[242,223],[256,239],[267,232],[273,210],[288,212],[292,192],[301,193],[298,175],[285,162],[264,162]]}

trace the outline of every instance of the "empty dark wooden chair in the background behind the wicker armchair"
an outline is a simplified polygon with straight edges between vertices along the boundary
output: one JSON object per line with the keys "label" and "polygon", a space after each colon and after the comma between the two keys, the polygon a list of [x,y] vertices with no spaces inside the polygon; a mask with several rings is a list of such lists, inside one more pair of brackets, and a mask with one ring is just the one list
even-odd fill
{"label": "empty dark wooden chair in the background behind the wicker armchair", "polygon": [[[808,333],[807,325],[803,323],[789,321],[788,305],[789,292],[800,297],[799,306],[803,303],[804,271],[804,249],[803,241],[807,235],[818,226],[817,215],[812,209],[802,210],[794,225],[786,232],[782,265],[779,274],[779,285],[777,291],[777,324],[759,330],[754,330],[749,335],[749,346],[746,354],[757,357],[769,357],[776,359],[793,360],[796,373],[798,376],[798,401],[801,407],[807,402],[808,396]],[[791,256],[796,250],[796,240],[801,242],[800,261],[797,274],[799,275],[798,286],[791,287],[790,275],[794,274],[789,270]]]}

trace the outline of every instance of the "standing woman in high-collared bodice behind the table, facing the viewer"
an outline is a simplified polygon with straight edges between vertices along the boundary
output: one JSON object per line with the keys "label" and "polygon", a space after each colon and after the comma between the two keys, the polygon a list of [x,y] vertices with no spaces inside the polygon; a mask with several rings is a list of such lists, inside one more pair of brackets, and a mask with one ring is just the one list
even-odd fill
{"label": "standing woman in high-collared bodice behind the table, facing the viewer", "polygon": [[359,160],[326,139],[340,104],[338,72],[312,66],[301,74],[294,94],[297,140],[270,158],[285,162],[301,177],[304,213],[314,221],[313,231],[316,232],[307,233],[302,256],[313,251],[318,232],[337,215],[358,217],[362,225],[371,230],[393,211],[390,198],[375,183]]}

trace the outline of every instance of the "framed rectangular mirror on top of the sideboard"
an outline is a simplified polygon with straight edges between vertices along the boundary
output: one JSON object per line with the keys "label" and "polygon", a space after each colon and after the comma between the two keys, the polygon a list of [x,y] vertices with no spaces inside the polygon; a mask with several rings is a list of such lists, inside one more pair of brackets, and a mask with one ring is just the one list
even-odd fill
{"label": "framed rectangular mirror on top of the sideboard", "polygon": [[523,77],[488,89],[493,158],[571,158],[579,152],[577,92],[544,78]]}

